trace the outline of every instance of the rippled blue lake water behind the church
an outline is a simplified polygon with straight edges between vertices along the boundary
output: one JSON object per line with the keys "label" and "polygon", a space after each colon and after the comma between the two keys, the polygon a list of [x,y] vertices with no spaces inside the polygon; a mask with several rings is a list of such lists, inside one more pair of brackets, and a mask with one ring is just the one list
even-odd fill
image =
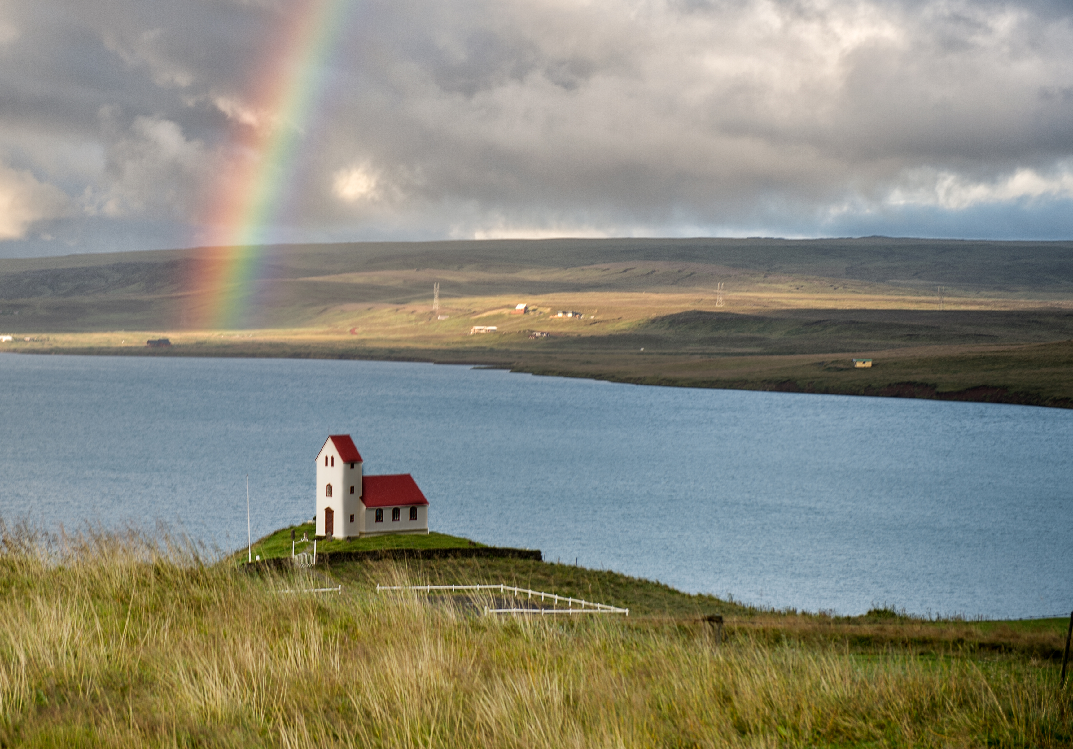
{"label": "rippled blue lake water behind the church", "polygon": [[0,355],[0,515],[310,518],[349,432],[433,530],[750,603],[1073,607],[1073,411],[623,385],[383,362]]}

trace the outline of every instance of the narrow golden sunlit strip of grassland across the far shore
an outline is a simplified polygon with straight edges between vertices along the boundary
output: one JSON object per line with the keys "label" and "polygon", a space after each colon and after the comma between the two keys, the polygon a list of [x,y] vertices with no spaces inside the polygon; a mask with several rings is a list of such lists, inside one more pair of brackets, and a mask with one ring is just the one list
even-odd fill
{"label": "narrow golden sunlit strip of grassland across the far shore", "polygon": [[[429,294],[430,296],[430,294]],[[518,303],[531,306],[529,314],[511,314]],[[1049,303],[1044,310],[1073,311],[1073,300]],[[580,320],[555,317],[558,310],[577,310]],[[723,314],[729,319],[752,315],[767,320],[765,313],[795,312],[802,320],[824,319],[839,310],[887,310],[937,312],[935,298],[922,296],[843,296],[820,294],[749,294],[727,293],[723,306],[717,306],[715,293],[706,290],[690,292],[578,292],[543,295],[516,294],[510,296],[481,296],[444,299],[438,313],[431,309],[431,299],[399,304],[348,303],[333,306],[317,315],[307,325],[286,327],[250,327],[235,331],[189,329],[179,326],[134,328],[126,331],[64,332],[26,331],[15,334],[15,340],[0,350],[36,350],[42,348],[145,348],[149,338],[167,337],[183,347],[235,348],[246,343],[315,344],[338,349],[389,348],[444,350],[517,348],[520,340],[532,331],[544,331],[559,339],[591,339],[634,333],[650,321],[692,310]],[[1032,312],[1041,310],[1040,303],[1024,299],[975,298],[946,299],[946,320],[954,322],[958,312]],[[810,317],[799,314],[809,312]],[[756,315],[760,315],[759,318]],[[440,318],[443,319],[440,319]],[[778,322],[780,318],[770,319]],[[14,319],[6,322],[15,322]],[[960,321],[959,321],[960,322]],[[983,324],[986,322],[982,321]],[[2,323],[0,323],[2,324]],[[936,327],[934,319],[926,323]],[[961,326],[972,323],[960,322]],[[978,323],[979,324],[979,323]],[[469,335],[472,326],[495,325],[495,334]],[[1024,333],[1024,332],[1023,332]],[[761,332],[760,335],[763,335]],[[30,341],[24,340],[30,338]],[[1000,336],[995,342],[1030,342],[1012,336]],[[549,341],[542,341],[547,343]],[[822,341],[817,341],[822,346]],[[525,344],[530,346],[530,344]],[[897,341],[897,346],[907,346]],[[530,346],[531,348],[531,346]],[[712,348],[712,347],[708,347]],[[734,352],[733,342],[714,347],[723,353]],[[760,352],[755,346],[753,350]],[[177,353],[177,352],[173,352]],[[183,353],[193,353],[190,350]]]}

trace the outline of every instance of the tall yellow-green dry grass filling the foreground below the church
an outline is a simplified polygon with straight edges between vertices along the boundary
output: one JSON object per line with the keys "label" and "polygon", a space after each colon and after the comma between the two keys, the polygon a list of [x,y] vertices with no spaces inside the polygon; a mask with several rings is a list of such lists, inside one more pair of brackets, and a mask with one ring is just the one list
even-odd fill
{"label": "tall yellow-green dry grass filling the foreground below the church", "polygon": [[1027,660],[283,594],[319,578],[133,531],[0,526],[0,546],[3,745],[1058,747],[1073,729]]}

